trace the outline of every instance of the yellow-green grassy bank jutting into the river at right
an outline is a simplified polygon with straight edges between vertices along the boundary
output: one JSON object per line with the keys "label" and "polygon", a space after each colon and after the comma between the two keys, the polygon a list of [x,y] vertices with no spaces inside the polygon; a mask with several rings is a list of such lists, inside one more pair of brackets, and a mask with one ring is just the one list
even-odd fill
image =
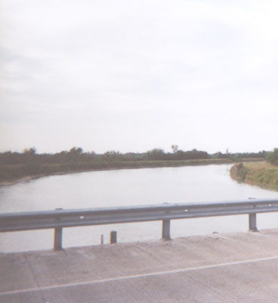
{"label": "yellow-green grassy bank jutting into the river at right", "polygon": [[230,175],[238,181],[278,190],[278,167],[266,161],[236,163]]}

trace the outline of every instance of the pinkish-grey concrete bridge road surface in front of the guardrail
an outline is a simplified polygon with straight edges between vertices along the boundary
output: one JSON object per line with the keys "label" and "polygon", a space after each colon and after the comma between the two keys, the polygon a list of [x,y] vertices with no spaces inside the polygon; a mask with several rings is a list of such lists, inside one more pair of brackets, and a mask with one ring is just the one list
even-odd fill
{"label": "pinkish-grey concrete bridge road surface in front of the guardrail", "polygon": [[0,254],[0,302],[278,302],[278,229]]}

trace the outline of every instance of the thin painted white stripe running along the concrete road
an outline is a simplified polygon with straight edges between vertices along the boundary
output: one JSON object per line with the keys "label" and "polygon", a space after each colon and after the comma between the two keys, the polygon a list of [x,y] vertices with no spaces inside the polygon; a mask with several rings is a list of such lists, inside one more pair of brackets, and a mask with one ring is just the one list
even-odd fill
{"label": "thin painted white stripe running along the concrete road", "polygon": [[29,292],[32,292],[32,291],[39,291],[39,290],[67,288],[67,287],[72,287],[72,286],[85,286],[85,285],[107,283],[107,282],[113,282],[113,281],[121,281],[121,280],[126,280],[126,279],[138,279],[138,278],[144,278],[144,277],[154,277],[154,276],[159,276],[159,275],[170,275],[170,274],[175,274],[175,273],[179,273],[179,272],[191,272],[191,271],[194,271],[194,270],[206,270],[206,269],[211,269],[211,268],[221,268],[221,267],[224,267],[224,266],[255,263],[255,262],[261,262],[261,261],[270,261],[270,260],[275,260],[275,259],[278,259],[278,256],[269,256],[269,257],[259,258],[259,259],[251,259],[251,260],[244,260],[244,261],[234,261],[234,262],[227,262],[227,263],[196,266],[196,267],[192,267],[192,268],[179,268],[179,269],[176,269],[176,270],[165,270],[165,271],[161,271],[161,272],[149,272],[147,274],[129,275],[129,276],[99,279],[99,280],[93,280],[93,281],[83,281],[83,282],[76,282],[76,283],[41,286],[41,287],[38,287],[38,288],[26,288],[26,289],[10,290],[10,291],[5,291],[3,293],[0,293],[0,297],[3,296],[3,295],[15,295],[15,294],[19,294],[19,293],[29,293]]}

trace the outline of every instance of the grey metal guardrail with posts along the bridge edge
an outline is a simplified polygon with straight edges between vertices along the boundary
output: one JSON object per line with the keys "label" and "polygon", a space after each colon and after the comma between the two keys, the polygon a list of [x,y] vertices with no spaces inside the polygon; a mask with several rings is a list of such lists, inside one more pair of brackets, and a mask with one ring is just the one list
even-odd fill
{"label": "grey metal guardrail with posts along the bridge edge", "polygon": [[170,220],[220,215],[249,215],[250,231],[257,231],[256,213],[278,211],[278,199],[248,199],[202,204],[160,204],[113,208],[61,209],[1,213],[0,232],[55,229],[54,249],[62,249],[62,229],[88,225],[162,220],[162,238],[170,240]]}

